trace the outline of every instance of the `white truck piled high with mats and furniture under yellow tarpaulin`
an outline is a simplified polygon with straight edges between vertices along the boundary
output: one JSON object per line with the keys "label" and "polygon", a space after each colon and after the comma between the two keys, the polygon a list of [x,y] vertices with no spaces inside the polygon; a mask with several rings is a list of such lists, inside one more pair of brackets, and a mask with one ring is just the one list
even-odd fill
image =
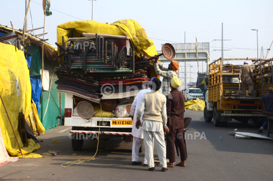
{"label": "white truck piled high with mats and furniture under yellow tarpaulin", "polygon": [[64,125],[72,126],[73,150],[81,150],[87,136],[131,141],[131,104],[157,77],[147,58],[157,54],[152,40],[130,19],[68,22],[57,30],[56,84],[65,93]]}

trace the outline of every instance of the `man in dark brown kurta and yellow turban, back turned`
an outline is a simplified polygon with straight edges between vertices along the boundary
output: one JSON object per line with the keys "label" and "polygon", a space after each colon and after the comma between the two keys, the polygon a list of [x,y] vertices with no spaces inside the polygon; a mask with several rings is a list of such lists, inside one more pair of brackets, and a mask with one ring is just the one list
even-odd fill
{"label": "man in dark brown kurta and yellow turban, back turned", "polygon": [[180,150],[180,159],[181,162],[176,164],[178,166],[186,166],[185,160],[186,148],[184,142],[184,112],[185,112],[185,96],[182,92],[177,90],[181,86],[181,82],[177,77],[173,77],[170,83],[171,92],[167,96],[166,108],[167,108],[167,117],[168,122],[167,126],[169,132],[166,134],[167,142],[167,158],[169,158],[168,167],[174,167],[173,163],[175,162],[175,153],[174,153],[174,141],[178,144]]}

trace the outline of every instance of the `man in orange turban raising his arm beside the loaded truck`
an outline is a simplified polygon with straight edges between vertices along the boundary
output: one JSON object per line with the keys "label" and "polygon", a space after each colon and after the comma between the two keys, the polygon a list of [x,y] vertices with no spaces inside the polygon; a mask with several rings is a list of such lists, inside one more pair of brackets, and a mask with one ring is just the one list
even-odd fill
{"label": "man in orange turban raising his arm beside the loaded truck", "polygon": [[157,55],[153,57],[153,61],[155,62],[155,71],[157,75],[163,77],[162,94],[167,96],[171,91],[170,88],[171,79],[173,78],[173,76],[177,77],[178,75],[176,70],[178,70],[179,64],[177,61],[171,60],[168,68],[166,68],[162,63],[158,62],[158,59],[159,57],[157,57]]}

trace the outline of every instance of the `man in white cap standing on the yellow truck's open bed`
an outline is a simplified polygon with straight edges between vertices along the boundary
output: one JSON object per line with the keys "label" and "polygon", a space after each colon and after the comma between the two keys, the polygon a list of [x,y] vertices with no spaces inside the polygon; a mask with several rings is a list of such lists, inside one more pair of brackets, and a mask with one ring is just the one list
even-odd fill
{"label": "man in white cap standing on the yellow truck's open bed", "polygon": [[239,81],[242,81],[242,92],[243,95],[246,96],[246,87],[248,86],[248,95],[252,96],[253,90],[253,73],[252,68],[248,64],[248,61],[244,61],[244,65],[241,66],[239,71]]}

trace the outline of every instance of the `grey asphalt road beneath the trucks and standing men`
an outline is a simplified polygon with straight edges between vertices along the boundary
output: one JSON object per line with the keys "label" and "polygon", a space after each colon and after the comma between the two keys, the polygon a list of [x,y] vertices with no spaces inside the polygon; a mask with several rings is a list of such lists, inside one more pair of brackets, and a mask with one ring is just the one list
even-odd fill
{"label": "grey asphalt road beneath the trucks and standing men", "polygon": [[[84,140],[82,151],[73,151],[68,137],[69,127],[59,126],[38,136],[41,149],[37,154],[49,150],[60,151],[60,156],[19,159],[0,167],[1,180],[273,180],[273,140],[235,139],[229,131],[257,133],[257,128],[248,123],[232,121],[228,127],[214,127],[206,123],[201,111],[186,111],[192,117],[186,140],[188,160],[186,167],[169,168],[155,172],[147,167],[131,165],[131,142],[122,138],[99,141],[95,160],[61,167],[62,163],[81,158],[92,158],[97,149],[97,140]],[[196,133],[195,133],[196,132]],[[204,132],[206,139],[198,135]],[[203,135],[204,135],[203,134]],[[263,133],[266,134],[266,133]],[[186,136],[187,138],[187,136]],[[53,144],[54,140],[61,141]],[[156,152],[155,152],[156,153]],[[73,155],[76,154],[76,155]],[[140,154],[141,161],[144,154]],[[176,162],[179,157],[176,157]]]}

